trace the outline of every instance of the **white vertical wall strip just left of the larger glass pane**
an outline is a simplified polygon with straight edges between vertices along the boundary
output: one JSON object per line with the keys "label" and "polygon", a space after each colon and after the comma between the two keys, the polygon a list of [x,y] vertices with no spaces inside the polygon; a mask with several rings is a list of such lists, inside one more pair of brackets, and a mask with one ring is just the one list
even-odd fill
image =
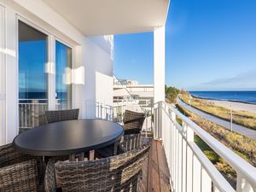
{"label": "white vertical wall strip just left of the larger glass pane", "polygon": [[13,9],[6,8],[6,143],[12,143],[19,132],[19,70],[17,20]]}

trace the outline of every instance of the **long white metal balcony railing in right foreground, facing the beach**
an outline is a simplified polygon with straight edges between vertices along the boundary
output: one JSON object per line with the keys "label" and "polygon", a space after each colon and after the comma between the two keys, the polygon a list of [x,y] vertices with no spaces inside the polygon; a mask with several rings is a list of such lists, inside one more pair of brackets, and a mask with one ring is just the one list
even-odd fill
{"label": "long white metal balcony railing in right foreground, facing the beach", "polygon": [[[183,125],[177,123],[177,116]],[[236,170],[236,191],[256,191],[256,168],[219,143],[193,121],[165,102],[154,104],[154,138],[162,139],[166,151],[171,183],[175,192],[234,192],[230,183],[218,172],[194,142],[201,137],[212,150]]]}

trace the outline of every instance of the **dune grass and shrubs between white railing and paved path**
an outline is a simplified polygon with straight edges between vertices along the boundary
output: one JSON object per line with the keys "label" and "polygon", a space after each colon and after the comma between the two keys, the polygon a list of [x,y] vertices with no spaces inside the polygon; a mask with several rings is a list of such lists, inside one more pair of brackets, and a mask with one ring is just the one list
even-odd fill
{"label": "dune grass and shrubs between white railing and paved path", "polygon": [[[236,132],[229,131],[207,119],[203,119],[200,116],[189,112],[180,105],[177,105],[177,109],[194,121],[195,124],[201,126],[201,128],[212,135],[212,137],[215,137],[220,143],[223,143],[227,148],[230,148],[233,152],[241,156],[241,158],[247,160],[251,165],[256,166],[255,141]],[[177,121],[182,124],[182,119],[177,119]],[[222,157],[213,151],[212,148],[210,148],[200,137],[195,135],[194,140],[207,158],[212,161],[212,164],[218,169],[218,171],[223,174],[234,188],[236,188],[236,171],[228,165]]]}

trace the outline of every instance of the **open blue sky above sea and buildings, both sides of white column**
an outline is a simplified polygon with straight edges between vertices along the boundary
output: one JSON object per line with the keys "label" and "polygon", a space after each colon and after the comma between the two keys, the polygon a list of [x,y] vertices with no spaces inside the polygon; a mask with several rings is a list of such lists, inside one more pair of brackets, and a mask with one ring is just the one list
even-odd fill
{"label": "open blue sky above sea and buildings, both sides of white column", "polygon": [[[166,84],[187,90],[256,90],[256,1],[172,0]],[[114,37],[114,73],[153,83],[153,33]]]}

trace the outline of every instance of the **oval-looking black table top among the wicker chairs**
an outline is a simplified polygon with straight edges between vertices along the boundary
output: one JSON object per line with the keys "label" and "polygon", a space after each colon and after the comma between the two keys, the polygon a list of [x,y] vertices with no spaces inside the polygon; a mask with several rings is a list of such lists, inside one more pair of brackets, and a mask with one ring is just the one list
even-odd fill
{"label": "oval-looking black table top among the wicker chairs", "polygon": [[107,120],[68,120],[25,131],[15,137],[13,145],[37,156],[77,154],[115,143],[123,132],[121,125]]}

